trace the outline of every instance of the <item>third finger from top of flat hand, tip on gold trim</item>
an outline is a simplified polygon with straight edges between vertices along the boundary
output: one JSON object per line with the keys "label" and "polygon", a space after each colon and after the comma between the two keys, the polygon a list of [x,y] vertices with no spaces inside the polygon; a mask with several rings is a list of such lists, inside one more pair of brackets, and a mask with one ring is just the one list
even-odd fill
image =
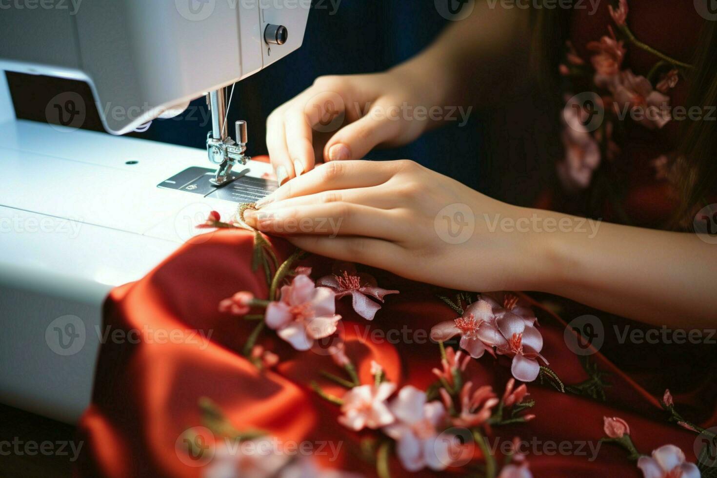
{"label": "third finger from top of flat hand, tip on gold trim", "polygon": [[397,241],[405,236],[397,214],[350,203],[312,204],[244,213],[244,221],[271,234],[317,234],[330,237],[366,236]]}

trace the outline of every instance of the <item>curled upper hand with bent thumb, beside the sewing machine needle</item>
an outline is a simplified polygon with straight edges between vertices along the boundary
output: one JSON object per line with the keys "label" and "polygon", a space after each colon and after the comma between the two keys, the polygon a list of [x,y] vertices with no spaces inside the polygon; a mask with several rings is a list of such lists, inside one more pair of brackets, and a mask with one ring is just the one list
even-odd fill
{"label": "curled upper hand with bent thumb, beside the sewing machine needle", "polygon": [[371,75],[318,77],[267,119],[267,148],[279,183],[323,161],[361,159],[377,145],[418,138],[430,120],[414,114],[415,107],[437,104],[437,85],[426,80],[406,64]]}

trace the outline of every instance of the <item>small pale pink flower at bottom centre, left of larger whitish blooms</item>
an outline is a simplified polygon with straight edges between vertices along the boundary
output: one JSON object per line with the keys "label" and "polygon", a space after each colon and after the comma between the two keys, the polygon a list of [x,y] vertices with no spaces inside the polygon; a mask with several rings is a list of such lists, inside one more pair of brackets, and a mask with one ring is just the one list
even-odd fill
{"label": "small pale pink flower at bottom centre, left of larger whitish blooms", "polygon": [[396,391],[396,385],[391,382],[382,382],[376,385],[361,385],[353,387],[343,396],[341,406],[342,416],[338,423],[346,428],[359,431],[368,427],[379,429],[394,422],[386,400]]}

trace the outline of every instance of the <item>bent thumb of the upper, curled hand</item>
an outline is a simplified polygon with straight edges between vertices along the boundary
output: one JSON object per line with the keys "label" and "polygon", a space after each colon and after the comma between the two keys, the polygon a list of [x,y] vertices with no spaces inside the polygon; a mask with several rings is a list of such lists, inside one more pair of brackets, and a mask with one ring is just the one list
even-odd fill
{"label": "bent thumb of the upper, curled hand", "polygon": [[401,128],[395,105],[377,102],[366,115],[338,130],[324,148],[326,161],[361,159],[399,134]]}

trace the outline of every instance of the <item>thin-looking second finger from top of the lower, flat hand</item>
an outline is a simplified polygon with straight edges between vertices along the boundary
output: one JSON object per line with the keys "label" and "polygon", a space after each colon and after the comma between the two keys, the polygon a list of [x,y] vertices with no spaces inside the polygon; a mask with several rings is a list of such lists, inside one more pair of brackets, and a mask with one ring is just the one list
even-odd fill
{"label": "thin-looking second finger from top of the lower, flat hand", "polygon": [[340,191],[323,191],[321,193],[309,194],[308,196],[298,196],[295,198],[277,201],[262,207],[262,211],[272,211],[273,209],[286,209],[297,206],[310,206],[313,204],[330,204],[346,202],[351,204],[361,204],[376,209],[394,209],[399,206],[398,201],[394,201],[396,196],[387,194],[384,189],[386,186],[371,186],[369,188],[342,189]]}

